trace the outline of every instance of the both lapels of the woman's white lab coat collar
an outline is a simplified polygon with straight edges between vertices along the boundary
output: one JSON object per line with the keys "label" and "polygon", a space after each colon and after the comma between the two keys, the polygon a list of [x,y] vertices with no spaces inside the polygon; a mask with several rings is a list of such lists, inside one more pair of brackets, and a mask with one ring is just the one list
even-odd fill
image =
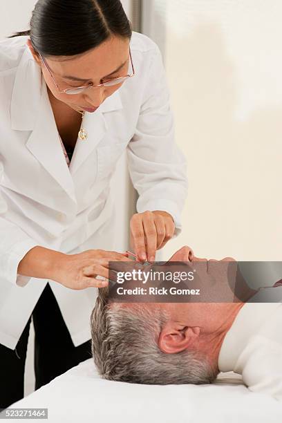
{"label": "both lapels of the woman's white lab coat collar", "polygon": [[72,175],[104,137],[107,129],[104,113],[118,109],[122,109],[122,102],[120,93],[115,91],[97,111],[85,113],[83,127],[88,133],[88,138],[84,141],[77,140],[71,167],[68,169],[45,79],[40,66],[26,46],[17,68],[12,90],[11,127],[16,131],[32,131],[26,147],[75,203]]}

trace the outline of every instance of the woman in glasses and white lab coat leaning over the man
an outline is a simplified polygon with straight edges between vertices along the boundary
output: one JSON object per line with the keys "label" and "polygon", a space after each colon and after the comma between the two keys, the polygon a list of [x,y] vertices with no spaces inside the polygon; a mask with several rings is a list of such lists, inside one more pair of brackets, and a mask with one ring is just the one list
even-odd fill
{"label": "woman in glasses and white lab coat leaning over the man", "polygon": [[[185,158],[160,50],[120,0],[39,0],[0,41],[0,408],[23,396],[35,326],[36,388],[91,357],[97,275],[113,251],[110,180],[127,151],[140,260],[180,232]],[[123,207],[122,205],[116,205]],[[88,288],[88,289],[84,289]]]}

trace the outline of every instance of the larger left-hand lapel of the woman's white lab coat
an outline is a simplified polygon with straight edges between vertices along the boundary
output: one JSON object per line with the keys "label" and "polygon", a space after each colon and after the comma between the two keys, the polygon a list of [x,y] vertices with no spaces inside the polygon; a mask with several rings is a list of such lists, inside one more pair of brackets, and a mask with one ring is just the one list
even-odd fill
{"label": "larger left-hand lapel of the woman's white lab coat", "polygon": [[28,46],[17,68],[10,111],[12,129],[32,131],[26,148],[76,203],[73,178],[60,144],[46,83]]}

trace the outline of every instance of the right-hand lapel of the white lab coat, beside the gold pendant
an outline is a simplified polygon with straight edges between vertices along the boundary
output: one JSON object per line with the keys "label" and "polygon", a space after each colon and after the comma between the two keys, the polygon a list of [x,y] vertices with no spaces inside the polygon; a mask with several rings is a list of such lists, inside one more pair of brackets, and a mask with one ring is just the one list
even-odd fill
{"label": "right-hand lapel of the white lab coat, beside the gold pendant", "polygon": [[99,144],[104,138],[108,129],[106,113],[119,109],[122,109],[120,92],[115,91],[115,93],[113,93],[110,97],[106,98],[106,100],[94,113],[84,114],[82,127],[88,133],[88,137],[83,141],[79,140],[79,138],[77,139],[77,145],[75,146],[70,166],[72,175],[77,172],[79,167],[82,167],[82,164],[97,147],[97,144]]}

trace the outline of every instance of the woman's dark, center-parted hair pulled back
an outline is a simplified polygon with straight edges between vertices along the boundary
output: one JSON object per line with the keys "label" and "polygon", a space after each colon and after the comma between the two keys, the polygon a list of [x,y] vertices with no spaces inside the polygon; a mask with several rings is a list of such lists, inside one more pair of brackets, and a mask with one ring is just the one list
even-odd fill
{"label": "woman's dark, center-parted hair pulled back", "polygon": [[30,30],[8,38],[30,35],[43,56],[73,56],[95,48],[112,35],[131,39],[132,27],[120,0],[38,0]]}

